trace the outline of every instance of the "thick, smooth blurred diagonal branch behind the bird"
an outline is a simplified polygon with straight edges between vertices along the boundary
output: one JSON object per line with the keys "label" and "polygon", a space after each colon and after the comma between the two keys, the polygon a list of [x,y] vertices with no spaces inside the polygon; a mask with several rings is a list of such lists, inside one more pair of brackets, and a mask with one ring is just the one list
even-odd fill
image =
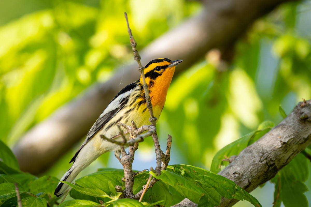
{"label": "thick, smooth blurred diagonal branch behind the bird", "polygon": [[[160,57],[183,59],[176,75],[202,59],[210,49],[231,47],[254,20],[287,1],[203,1],[204,9],[200,14],[163,34],[142,50],[143,64]],[[38,174],[48,169],[68,148],[80,141],[115,94],[138,77],[136,64],[130,62],[109,81],[92,86],[83,96],[60,107],[30,129],[13,148],[21,170]]]}

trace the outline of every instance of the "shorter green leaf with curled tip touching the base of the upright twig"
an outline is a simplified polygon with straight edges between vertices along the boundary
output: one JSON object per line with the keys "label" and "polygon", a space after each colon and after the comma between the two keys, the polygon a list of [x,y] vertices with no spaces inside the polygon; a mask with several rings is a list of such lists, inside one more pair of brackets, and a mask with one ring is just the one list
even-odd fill
{"label": "shorter green leaf with curled tip touching the base of the upright twig", "polygon": [[162,170],[160,176],[156,176],[152,171],[150,174],[156,179],[162,180],[162,182],[174,187],[181,195],[195,203],[198,203],[200,198],[206,194],[206,192],[201,187],[198,187],[194,181],[190,181],[176,173]]}

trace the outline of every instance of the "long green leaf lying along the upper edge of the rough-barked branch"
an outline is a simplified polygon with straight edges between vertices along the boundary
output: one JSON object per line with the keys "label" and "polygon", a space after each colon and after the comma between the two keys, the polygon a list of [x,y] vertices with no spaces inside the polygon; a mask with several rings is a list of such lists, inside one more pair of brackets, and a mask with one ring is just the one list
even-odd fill
{"label": "long green leaf lying along the upper edge of the rough-barked branch", "polygon": [[223,147],[215,154],[211,164],[211,171],[218,173],[221,170],[220,167],[222,165],[227,166],[229,164],[229,161],[224,159],[230,158],[233,155],[239,155],[244,148],[256,142],[259,138],[269,132],[272,127],[274,127],[273,122],[265,121],[259,125],[258,130],[249,133]]}

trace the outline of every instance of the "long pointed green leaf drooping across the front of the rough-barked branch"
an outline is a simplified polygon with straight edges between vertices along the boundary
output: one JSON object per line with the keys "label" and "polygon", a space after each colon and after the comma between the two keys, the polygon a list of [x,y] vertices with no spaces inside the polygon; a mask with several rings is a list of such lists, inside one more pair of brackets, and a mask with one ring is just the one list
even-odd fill
{"label": "long pointed green leaf drooping across the front of the rough-barked branch", "polygon": [[244,191],[233,181],[221,175],[184,164],[169,165],[168,168],[177,173],[183,172],[183,176],[202,184],[204,186],[203,189],[208,192],[208,195],[211,196],[214,202],[217,202],[217,205],[219,205],[220,197],[218,200],[216,196],[220,194],[220,196],[228,199],[247,200],[254,206],[261,206],[256,198]]}

